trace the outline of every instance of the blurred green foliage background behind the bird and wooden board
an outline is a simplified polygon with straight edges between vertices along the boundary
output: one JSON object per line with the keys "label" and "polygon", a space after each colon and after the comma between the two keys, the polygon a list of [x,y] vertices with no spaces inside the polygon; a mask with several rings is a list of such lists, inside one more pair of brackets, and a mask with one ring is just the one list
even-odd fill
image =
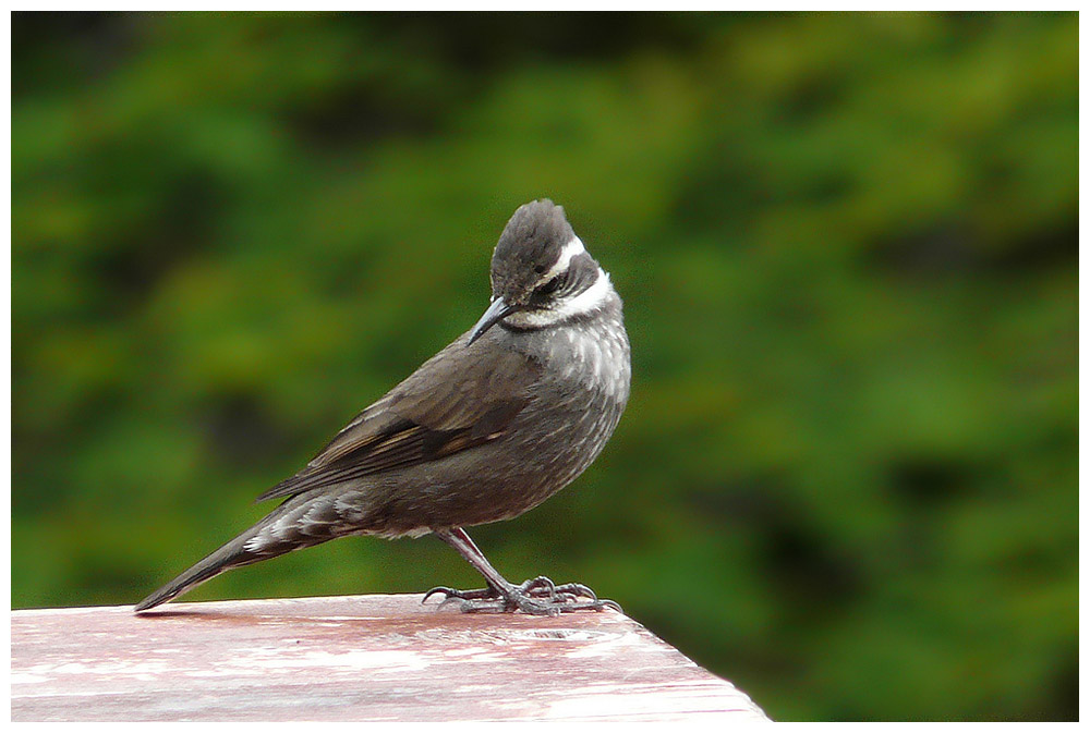
{"label": "blurred green foliage background behind the bird and wooden board", "polygon": [[[1078,19],[27,14],[12,606],[132,603],[467,329],[549,196],[615,438],[474,537],[780,720],[1077,717]],[[351,538],[187,600],[480,584]]]}

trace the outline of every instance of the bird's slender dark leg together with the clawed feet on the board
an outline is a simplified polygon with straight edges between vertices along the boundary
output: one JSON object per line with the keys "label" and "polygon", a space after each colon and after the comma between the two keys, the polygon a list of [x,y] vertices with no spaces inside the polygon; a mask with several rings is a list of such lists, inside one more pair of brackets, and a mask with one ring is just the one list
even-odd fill
{"label": "bird's slender dark leg together with the clawed feet on the board", "polygon": [[[487,588],[477,590],[456,590],[453,588],[432,588],[424,595],[427,600],[433,594],[443,594],[446,600],[460,600],[464,612],[510,613],[522,611],[534,615],[557,615],[568,611],[601,611],[611,608],[620,611],[620,606],[611,600],[600,600],[594,591],[579,583],[556,585],[544,575],[513,585],[499,574],[477,549],[470,536],[461,527],[436,529],[435,535],[465,558],[488,582]],[[580,601],[579,598],[590,600]],[[446,602],[446,601],[444,601]]]}

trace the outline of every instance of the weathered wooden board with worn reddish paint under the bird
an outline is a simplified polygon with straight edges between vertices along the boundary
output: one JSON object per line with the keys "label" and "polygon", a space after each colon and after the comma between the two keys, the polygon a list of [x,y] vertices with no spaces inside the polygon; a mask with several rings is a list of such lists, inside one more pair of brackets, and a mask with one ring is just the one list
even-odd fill
{"label": "weathered wooden board with worn reddish paint under the bird", "polygon": [[630,619],[420,596],[13,611],[14,721],[726,721],[764,713]]}

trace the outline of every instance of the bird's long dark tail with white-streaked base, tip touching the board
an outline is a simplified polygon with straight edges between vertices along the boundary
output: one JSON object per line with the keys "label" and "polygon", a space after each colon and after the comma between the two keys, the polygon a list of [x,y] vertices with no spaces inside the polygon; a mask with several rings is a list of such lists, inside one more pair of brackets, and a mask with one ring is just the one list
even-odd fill
{"label": "bird's long dark tail with white-streaked base, tip touching the board", "polygon": [[133,612],[140,613],[160,603],[166,603],[205,581],[234,567],[268,560],[292,550],[332,539],[329,534],[302,534],[298,532],[298,526],[284,526],[279,521],[284,518],[282,515],[286,509],[287,505],[281,504],[253,527],[142,600],[135,606]]}

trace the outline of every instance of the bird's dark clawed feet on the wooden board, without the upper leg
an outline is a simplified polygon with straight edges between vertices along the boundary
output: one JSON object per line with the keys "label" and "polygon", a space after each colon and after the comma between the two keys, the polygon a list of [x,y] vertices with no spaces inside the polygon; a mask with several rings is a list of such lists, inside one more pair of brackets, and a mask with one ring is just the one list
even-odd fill
{"label": "bird's dark clawed feet on the wooden board, without the upper leg", "polygon": [[522,585],[510,585],[502,589],[491,585],[476,590],[456,590],[440,586],[424,594],[421,602],[434,594],[446,596],[440,606],[453,600],[461,601],[460,608],[463,613],[522,611],[531,615],[559,615],[571,611],[603,611],[607,608],[621,610],[616,601],[600,599],[593,590],[581,583],[556,585],[544,575],[538,575]]}

